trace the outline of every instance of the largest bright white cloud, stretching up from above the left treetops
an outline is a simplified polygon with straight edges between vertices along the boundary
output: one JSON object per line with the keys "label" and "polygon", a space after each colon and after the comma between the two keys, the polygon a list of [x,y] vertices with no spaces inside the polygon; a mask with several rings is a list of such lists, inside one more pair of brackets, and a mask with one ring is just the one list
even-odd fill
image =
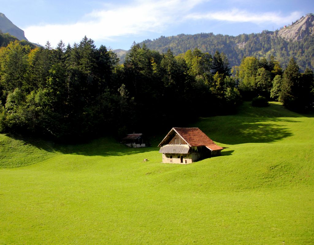
{"label": "largest bright white cloud, stretching up from above the left treetops", "polygon": [[60,39],[74,43],[84,35],[95,41],[112,40],[118,36],[161,32],[168,25],[183,19],[192,8],[205,0],[137,0],[129,5],[107,5],[106,9],[86,14],[73,24],[33,25],[24,29],[30,41],[55,46]]}

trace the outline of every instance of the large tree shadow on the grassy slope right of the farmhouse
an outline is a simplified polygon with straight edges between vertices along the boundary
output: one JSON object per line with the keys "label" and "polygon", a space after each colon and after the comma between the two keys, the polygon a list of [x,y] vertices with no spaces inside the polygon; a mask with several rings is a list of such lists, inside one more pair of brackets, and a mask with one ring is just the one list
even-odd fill
{"label": "large tree shadow on the grassy slope right of the farmhouse", "polygon": [[223,144],[272,143],[293,135],[289,124],[300,122],[296,118],[311,116],[291,112],[278,103],[253,107],[245,102],[238,114],[201,118],[197,126]]}

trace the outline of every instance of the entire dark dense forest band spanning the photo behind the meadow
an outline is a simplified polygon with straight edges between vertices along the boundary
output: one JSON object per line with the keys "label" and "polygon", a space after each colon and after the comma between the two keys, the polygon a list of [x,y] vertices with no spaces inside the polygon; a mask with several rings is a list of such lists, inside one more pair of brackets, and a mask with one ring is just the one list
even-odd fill
{"label": "entire dark dense forest band spanning the photo behind the meadow", "polygon": [[312,108],[313,72],[294,59],[282,71],[273,56],[244,57],[230,69],[222,52],[175,56],[134,43],[123,64],[86,36],[72,46],[0,48],[0,131],[53,139],[156,132],[199,116],[236,113],[241,99]]}

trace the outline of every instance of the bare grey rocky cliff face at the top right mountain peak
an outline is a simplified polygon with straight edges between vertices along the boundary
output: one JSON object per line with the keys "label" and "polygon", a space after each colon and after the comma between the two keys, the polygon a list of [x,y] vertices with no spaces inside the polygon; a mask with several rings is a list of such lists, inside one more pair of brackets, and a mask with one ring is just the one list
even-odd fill
{"label": "bare grey rocky cliff face at the top right mountain peak", "polygon": [[286,26],[277,32],[277,35],[286,40],[299,41],[305,35],[313,35],[314,33],[314,15],[307,14],[294,24]]}

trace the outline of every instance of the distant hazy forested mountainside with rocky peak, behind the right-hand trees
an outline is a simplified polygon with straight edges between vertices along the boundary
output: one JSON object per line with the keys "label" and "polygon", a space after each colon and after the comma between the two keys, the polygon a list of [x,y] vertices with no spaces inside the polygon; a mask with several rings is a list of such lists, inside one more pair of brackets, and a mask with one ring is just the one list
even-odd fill
{"label": "distant hazy forested mountainside with rocky peak, behind the right-hand trees", "polygon": [[149,49],[167,52],[170,48],[174,55],[198,48],[202,52],[214,54],[216,50],[224,52],[229,59],[230,66],[239,65],[245,56],[265,57],[273,55],[286,67],[291,58],[302,71],[306,67],[314,68],[314,16],[308,14],[296,22],[282,27],[280,30],[257,34],[241,34],[238,36],[214,35],[200,33],[195,35],[180,34],[176,36],[161,36],[156,40],[145,40]]}

